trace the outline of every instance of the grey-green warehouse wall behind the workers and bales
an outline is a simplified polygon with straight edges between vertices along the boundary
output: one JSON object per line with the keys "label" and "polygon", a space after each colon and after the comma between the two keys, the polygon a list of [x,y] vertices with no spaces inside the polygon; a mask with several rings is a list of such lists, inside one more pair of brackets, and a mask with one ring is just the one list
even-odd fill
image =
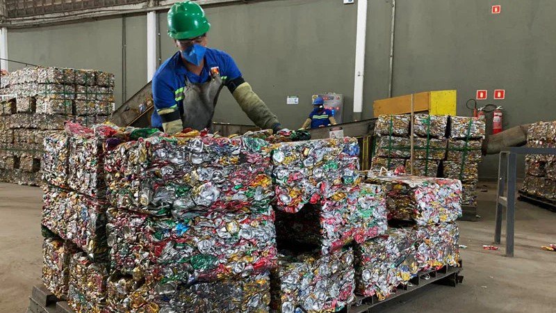
{"label": "grey-green warehouse wall behind the workers and bales", "polygon": [[[357,2],[357,1],[356,1]],[[458,113],[469,115],[467,99],[487,89],[480,102],[505,107],[505,127],[555,120],[556,12],[553,0],[398,0],[393,95],[423,90],[458,90]],[[493,4],[502,13],[491,15]],[[229,52],[243,76],[286,127],[299,127],[311,110],[313,93],[345,95],[345,120],[352,117],[356,5],[341,0],[261,1],[211,6],[211,47]],[[369,0],[363,117],[373,101],[388,95],[391,0]],[[162,61],[176,51],[166,35],[165,13],[158,15]],[[117,75],[130,97],[146,80],[146,18],[122,18],[64,26],[8,31],[10,58],[40,65],[87,67]],[[122,76],[122,49],[126,75]],[[10,64],[11,68],[16,68]],[[505,88],[505,100],[491,99]],[[301,104],[286,105],[287,95]],[[250,123],[227,90],[215,120]],[[481,175],[496,175],[496,158],[486,157]]]}

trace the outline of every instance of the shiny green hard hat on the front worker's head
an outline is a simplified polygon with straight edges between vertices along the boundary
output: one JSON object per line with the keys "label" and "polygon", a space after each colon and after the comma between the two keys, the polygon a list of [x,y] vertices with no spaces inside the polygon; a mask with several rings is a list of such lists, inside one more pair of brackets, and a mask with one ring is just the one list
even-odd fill
{"label": "shiny green hard hat on the front worker's head", "polygon": [[168,11],[168,35],[177,40],[199,37],[211,29],[204,10],[192,1],[174,3]]}

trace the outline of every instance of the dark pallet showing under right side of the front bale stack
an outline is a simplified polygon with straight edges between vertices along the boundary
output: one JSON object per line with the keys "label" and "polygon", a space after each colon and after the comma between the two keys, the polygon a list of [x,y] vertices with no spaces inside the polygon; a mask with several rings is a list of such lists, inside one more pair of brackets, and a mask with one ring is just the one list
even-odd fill
{"label": "dark pallet showing under right side of the front bale stack", "polygon": [[457,284],[464,281],[464,276],[459,275],[463,269],[461,261],[460,266],[443,266],[438,270],[420,271],[416,277],[412,278],[409,282],[410,284],[403,285],[400,284],[398,289],[391,294],[388,298],[384,300],[379,300],[377,296],[363,297],[356,296],[353,303],[347,305],[341,312],[345,313],[366,313],[371,312],[373,307],[377,305],[382,305],[389,300],[398,298],[411,293],[411,291],[416,291],[421,287],[425,287],[428,284],[444,284],[452,287],[456,287]]}

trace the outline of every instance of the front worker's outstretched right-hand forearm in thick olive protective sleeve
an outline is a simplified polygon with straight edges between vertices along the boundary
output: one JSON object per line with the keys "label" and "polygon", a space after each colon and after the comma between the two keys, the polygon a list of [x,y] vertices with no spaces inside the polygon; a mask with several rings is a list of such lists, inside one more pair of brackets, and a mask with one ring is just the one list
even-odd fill
{"label": "front worker's outstretched right-hand forearm in thick olive protective sleeve", "polygon": [[242,83],[232,95],[256,126],[262,129],[274,129],[280,124],[276,115],[270,112],[268,106],[254,93],[249,83]]}

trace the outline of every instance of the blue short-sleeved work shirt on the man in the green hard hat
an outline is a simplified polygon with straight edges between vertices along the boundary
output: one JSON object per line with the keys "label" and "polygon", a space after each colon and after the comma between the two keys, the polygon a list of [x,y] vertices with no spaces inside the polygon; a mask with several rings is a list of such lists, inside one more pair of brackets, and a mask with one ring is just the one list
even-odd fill
{"label": "blue short-sleeved work shirt on the man in the green hard hat", "polygon": [[183,112],[183,87],[186,86],[186,77],[190,83],[206,83],[211,79],[211,72],[215,71],[218,71],[223,81],[231,81],[241,76],[236,62],[229,54],[212,48],[206,48],[200,75],[186,69],[180,51],[162,63],[152,79],[152,127],[162,127],[161,117],[156,110],[176,107]]}

